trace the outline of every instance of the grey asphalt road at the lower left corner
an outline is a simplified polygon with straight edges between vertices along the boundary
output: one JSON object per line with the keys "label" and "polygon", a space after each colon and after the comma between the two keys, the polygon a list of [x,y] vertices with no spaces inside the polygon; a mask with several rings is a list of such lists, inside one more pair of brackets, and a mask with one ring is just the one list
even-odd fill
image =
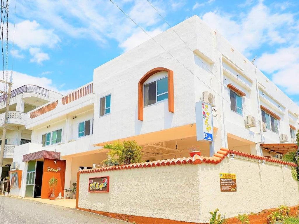
{"label": "grey asphalt road at the lower left corner", "polygon": [[127,222],[105,216],[49,205],[32,200],[0,196],[0,224],[57,224],[97,223],[124,224]]}

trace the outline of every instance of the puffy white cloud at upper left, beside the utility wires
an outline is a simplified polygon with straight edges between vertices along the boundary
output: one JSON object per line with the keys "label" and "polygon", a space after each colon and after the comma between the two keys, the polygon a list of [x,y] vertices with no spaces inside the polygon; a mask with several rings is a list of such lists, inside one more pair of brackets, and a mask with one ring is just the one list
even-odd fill
{"label": "puffy white cloud at upper left, beside the utility wires", "polygon": [[[10,33],[13,33],[13,24],[10,24]],[[10,37],[12,41],[12,36]],[[54,47],[60,42],[59,37],[54,34],[53,29],[43,29],[35,20],[24,20],[16,24],[14,43],[21,49],[29,47]]]}

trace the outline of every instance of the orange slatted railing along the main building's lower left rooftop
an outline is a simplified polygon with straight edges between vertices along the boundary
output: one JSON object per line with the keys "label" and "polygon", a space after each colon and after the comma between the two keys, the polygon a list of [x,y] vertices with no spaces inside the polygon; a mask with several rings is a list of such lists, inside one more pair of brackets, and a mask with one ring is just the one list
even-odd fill
{"label": "orange slatted railing along the main building's lower left rooftop", "polygon": [[89,83],[86,86],[79,88],[79,89],[75,90],[74,92],[69,93],[66,96],[62,96],[62,98],[59,100],[48,103],[47,105],[44,105],[44,106],[36,109],[35,111],[32,111],[30,113],[30,118],[32,119],[32,118],[40,116],[44,113],[54,110],[57,107],[58,103],[59,104],[61,103],[62,105],[66,105],[70,102],[80,99],[83,96],[87,96],[92,93],[92,90],[93,90],[93,83]]}

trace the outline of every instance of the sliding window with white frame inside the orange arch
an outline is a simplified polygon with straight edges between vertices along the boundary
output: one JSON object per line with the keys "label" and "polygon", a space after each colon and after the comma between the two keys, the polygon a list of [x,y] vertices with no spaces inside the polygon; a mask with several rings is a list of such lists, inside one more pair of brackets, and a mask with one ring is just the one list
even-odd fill
{"label": "sliding window with white frame inside the orange arch", "polygon": [[144,84],[144,106],[168,99],[168,76]]}

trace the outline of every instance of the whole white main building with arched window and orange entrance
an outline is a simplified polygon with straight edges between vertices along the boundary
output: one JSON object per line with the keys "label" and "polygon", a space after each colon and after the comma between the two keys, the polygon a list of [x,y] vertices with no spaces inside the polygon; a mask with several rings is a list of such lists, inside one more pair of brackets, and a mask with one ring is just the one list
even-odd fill
{"label": "whole white main building with arched window and orange entrance", "polygon": [[[13,157],[23,171],[14,194],[47,198],[42,183],[48,168],[58,167],[63,194],[80,168],[103,165],[102,146],[115,141],[135,140],[145,161],[188,157],[194,149],[208,157],[221,147],[274,157],[296,148],[295,102],[199,17],[173,29],[96,68],[93,82],[30,112],[32,142]],[[196,140],[195,103],[208,92],[216,109],[211,152]],[[34,193],[34,184],[42,192]]]}

